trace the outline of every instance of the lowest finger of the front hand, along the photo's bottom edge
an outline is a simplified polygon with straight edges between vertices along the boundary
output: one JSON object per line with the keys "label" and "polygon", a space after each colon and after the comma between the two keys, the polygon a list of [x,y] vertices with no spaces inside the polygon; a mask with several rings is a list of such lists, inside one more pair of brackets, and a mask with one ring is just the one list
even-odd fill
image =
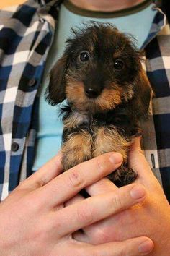
{"label": "lowest finger of the front hand, along the photo's bottom edge", "polygon": [[[56,247],[58,247],[58,244],[56,244]],[[68,247],[70,248],[71,256],[140,256],[150,253],[154,245],[152,240],[146,236],[135,237],[122,242],[109,242],[99,245],[69,239],[69,241],[63,240],[62,255],[68,255]],[[55,247],[53,251],[55,252]],[[58,255],[57,250],[55,255]]]}

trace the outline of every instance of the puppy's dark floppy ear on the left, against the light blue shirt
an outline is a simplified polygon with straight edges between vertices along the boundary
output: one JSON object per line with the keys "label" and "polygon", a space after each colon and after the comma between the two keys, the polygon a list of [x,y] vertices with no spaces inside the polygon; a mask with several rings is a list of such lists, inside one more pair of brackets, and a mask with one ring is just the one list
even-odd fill
{"label": "puppy's dark floppy ear on the left, against the light blue shirt", "polygon": [[66,99],[65,74],[67,69],[67,56],[63,55],[50,72],[50,83],[46,90],[46,100],[55,106]]}

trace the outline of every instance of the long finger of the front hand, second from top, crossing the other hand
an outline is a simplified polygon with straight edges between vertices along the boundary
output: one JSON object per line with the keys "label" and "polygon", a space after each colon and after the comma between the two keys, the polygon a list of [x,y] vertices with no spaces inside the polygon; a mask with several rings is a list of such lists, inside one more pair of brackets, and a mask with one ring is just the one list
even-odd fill
{"label": "long finger of the front hand, second from top, crossing the other hand", "polygon": [[50,218],[53,218],[54,225],[65,226],[65,229],[58,229],[59,236],[65,236],[130,208],[132,205],[142,202],[145,197],[146,189],[142,185],[130,184],[115,190],[115,192],[89,197],[69,205],[57,213],[54,212],[53,217]]}

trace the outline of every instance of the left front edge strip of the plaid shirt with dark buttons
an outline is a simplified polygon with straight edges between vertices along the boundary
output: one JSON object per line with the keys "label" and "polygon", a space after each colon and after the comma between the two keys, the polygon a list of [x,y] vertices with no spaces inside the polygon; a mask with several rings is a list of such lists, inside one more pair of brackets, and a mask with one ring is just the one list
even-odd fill
{"label": "left front edge strip of the plaid shirt with dark buttons", "polygon": [[[40,14],[42,9],[39,10]],[[24,59],[24,69],[19,80],[17,96],[14,106],[14,118],[12,125],[12,150],[9,169],[9,192],[19,184],[20,177],[27,177],[27,168],[30,166],[30,148],[33,148],[32,137],[35,129],[30,129],[32,115],[37,108],[36,95],[42,80],[42,73],[45,67],[45,59],[53,38],[53,26],[50,14],[42,12],[37,28],[39,34],[32,38],[32,48]],[[37,33],[37,31],[33,31]],[[34,43],[33,43],[34,42]],[[22,46],[21,46],[22,47]],[[36,122],[36,120],[34,119]],[[33,125],[35,128],[35,125]],[[34,136],[35,137],[35,136]],[[24,172],[24,174],[23,174]]]}

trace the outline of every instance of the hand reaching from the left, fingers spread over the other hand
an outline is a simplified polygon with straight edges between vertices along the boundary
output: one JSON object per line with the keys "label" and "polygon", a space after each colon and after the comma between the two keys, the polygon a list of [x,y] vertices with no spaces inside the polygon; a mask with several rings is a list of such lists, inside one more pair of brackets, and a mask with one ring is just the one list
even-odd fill
{"label": "hand reaching from the left, fingers spread over the other hand", "polygon": [[[138,237],[124,242],[93,245],[78,242],[72,233],[141,202],[130,196],[131,187],[92,196],[64,207],[81,189],[102,179],[120,166],[122,157],[107,153],[61,173],[61,155],[56,156],[14,189],[0,204],[0,255],[3,256],[93,256],[143,255],[153,242]],[[121,202],[117,198],[123,197]]]}

